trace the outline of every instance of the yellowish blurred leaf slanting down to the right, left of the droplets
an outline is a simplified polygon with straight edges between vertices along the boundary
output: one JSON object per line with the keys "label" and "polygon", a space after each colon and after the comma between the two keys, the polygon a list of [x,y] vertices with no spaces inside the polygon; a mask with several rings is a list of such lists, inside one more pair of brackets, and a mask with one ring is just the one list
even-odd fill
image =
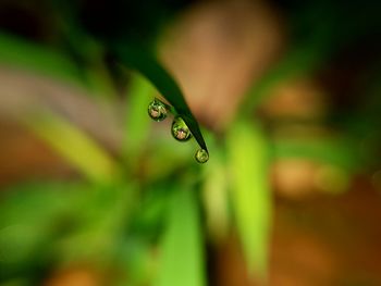
{"label": "yellowish blurred leaf slanting down to the right, left of the droplets", "polygon": [[116,162],[96,141],[64,119],[54,114],[39,114],[24,120],[24,124],[88,179],[97,183],[119,181]]}

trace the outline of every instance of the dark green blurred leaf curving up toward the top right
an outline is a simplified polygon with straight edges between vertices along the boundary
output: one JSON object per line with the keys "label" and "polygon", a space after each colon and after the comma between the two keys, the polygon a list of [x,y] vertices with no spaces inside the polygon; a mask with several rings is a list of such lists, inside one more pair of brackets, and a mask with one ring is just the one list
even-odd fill
{"label": "dark green blurred leaf curving up toward the top right", "polygon": [[[337,26],[337,20],[332,15],[331,2],[316,1],[308,3],[305,8],[303,13],[298,12],[302,17],[295,18],[294,24],[297,24],[297,27],[294,28],[300,29],[304,34],[306,27],[309,27],[308,33],[305,37],[298,35],[298,40],[293,41],[293,46],[284,57],[276,61],[276,64],[258,83],[255,83],[243,105],[246,114],[249,114],[263,98],[271,95],[271,90],[280,82],[311,74],[332,54],[336,38],[332,30],[333,26]],[[321,17],[324,17],[324,21],[316,25],[315,20]]]}

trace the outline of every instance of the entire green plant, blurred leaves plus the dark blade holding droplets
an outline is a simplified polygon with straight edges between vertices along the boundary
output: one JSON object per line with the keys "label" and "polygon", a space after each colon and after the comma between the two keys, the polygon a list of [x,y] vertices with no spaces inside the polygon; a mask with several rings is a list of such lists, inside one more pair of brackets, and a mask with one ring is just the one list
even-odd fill
{"label": "entire green plant, blurred leaves plus the dark blade holding droplets", "polygon": [[[280,83],[316,73],[337,52],[334,16],[295,40],[248,90],[225,132],[202,130],[205,140],[176,80],[156,59],[152,26],[162,24],[167,12],[159,1],[153,2],[162,14],[145,16],[153,11],[142,9],[146,1],[126,1],[127,8],[136,9],[136,18],[103,18],[105,26],[99,27],[91,22],[98,15],[94,11],[89,10],[89,23],[81,23],[78,3],[52,1],[48,8],[52,34],[59,35],[61,43],[0,34],[3,66],[85,91],[77,97],[87,95],[95,105],[124,104],[119,119],[123,139],[113,151],[50,105],[17,114],[16,121],[59,154],[76,176],[22,182],[2,191],[0,283],[38,284],[67,265],[86,264],[108,273],[108,285],[207,285],[206,241],[218,245],[232,232],[238,235],[250,277],[266,281],[273,208],[271,164],[303,158],[339,167],[346,178],[362,165],[378,163],[371,148],[367,154],[354,151],[359,138],[379,123],[377,75],[364,90],[369,96],[357,115],[348,120],[340,113],[336,137],[271,138],[262,126],[265,120],[253,117]],[[118,2],[111,9],[116,15],[119,4],[124,5]],[[311,24],[309,18],[323,18],[319,13],[330,10],[324,5],[335,4],[314,2],[291,15],[293,28],[303,30]],[[345,41],[364,29],[354,29]],[[175,119],[165,128],[177,139],[189,138],[188,128],[201,148],[196,160],[207,161],[210,150],[207,164],[194,163],[192,140],[179,144],[160,124],[152,126],[147,105],[157,92],[169,103],[161,111]],[[377,142],[378,136],[372,144]]]}

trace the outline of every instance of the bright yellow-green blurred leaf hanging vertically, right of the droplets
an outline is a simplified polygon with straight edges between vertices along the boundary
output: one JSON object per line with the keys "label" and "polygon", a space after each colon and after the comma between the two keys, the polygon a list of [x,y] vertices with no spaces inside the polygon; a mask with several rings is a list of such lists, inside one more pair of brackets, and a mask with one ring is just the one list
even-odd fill
{"label": "bright yellow-green blurred leaf hanging vertically, right of the droplets", "polygon": [[232,202],[250,274],[267,275],[271,220],[268,142],[259,127],[236,123],[228,137]]}

